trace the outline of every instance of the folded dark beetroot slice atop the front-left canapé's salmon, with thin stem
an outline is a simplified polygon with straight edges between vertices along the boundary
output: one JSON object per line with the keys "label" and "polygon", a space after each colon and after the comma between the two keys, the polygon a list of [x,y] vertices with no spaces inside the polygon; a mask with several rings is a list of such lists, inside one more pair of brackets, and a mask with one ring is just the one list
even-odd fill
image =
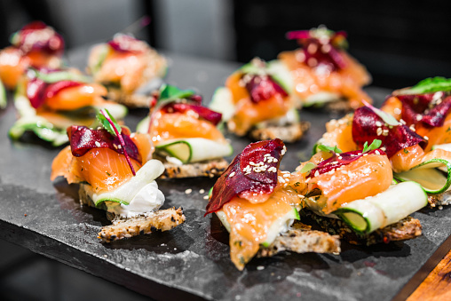
{"label": "folded dark beetroot slice atop the front-left canap\u00e9's salmon, with thin stem", "polygon": [[[112,149],[118,154],[123,154],[119,138],[111,135],[104,129],[91,130],[85,126],[72,125],[67,128],[67,136],[69,137],[72,154],[76,157],[86,154],[92,148],[104,147]],[[121,136],[123,137],[127,154],[129,154],[132,159],[141,162],[138,154],[138,147],[136,147],[131,140],[130,132],[126,128],[123,128]]]}

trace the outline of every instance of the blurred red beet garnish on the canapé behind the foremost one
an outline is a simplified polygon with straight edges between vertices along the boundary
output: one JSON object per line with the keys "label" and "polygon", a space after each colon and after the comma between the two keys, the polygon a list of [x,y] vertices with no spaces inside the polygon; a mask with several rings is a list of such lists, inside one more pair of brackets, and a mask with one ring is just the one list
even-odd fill
{"label": "blurred red beet garnish on the canap\u00e9 behind the foremost one", "polygon": [[288,93],[269,75],[253,75],[246,83],[246,89],[249,91],[250,100],[254,103],[270,99],[276,94],[288,96]]}

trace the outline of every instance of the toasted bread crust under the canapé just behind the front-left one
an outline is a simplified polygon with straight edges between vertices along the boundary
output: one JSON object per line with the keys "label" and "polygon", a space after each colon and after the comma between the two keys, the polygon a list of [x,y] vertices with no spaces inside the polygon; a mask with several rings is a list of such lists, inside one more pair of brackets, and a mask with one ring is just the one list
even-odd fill
{"label": "toasted bread crust under the canap\u00e9 just behind the front-left one", "polygon": [[223,158],[183,165],[164,161],[163,164],[165,170],[160,178],[219,177],[229,166]]}

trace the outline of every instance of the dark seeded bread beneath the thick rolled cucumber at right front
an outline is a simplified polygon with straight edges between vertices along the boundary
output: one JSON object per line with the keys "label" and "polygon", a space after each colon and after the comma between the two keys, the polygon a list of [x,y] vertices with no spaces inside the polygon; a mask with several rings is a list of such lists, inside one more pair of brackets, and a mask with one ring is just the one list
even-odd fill
{"label": "dark seeded bread beneath the thick rolled cucumber at right front", "polygon": [[372,245],[380,242],[388,243],[413,239],[422,234],[422,226],[416,218],[407,217],[398,223],[377,229],[370,234],[357,234],[342,220],[337,218],[326,218],[314,214],[311,210],[302,210],[305,218],[312,219],[329,234],[339,235],[346,242],[358,245]]}

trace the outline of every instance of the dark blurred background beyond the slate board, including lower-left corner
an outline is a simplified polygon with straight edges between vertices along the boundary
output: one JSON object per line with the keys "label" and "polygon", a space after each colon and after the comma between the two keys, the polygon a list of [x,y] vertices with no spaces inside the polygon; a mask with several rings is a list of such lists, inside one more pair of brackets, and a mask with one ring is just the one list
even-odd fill
{"label": "dark blurred background beyond the slate board, including lower-left corner", "polygon": [[[143,15],[154,47],[205,59],[275,59],[297,48],[289,30],[326,25],[348,33],[349,51],[376,86],[398,89],[451,77],[451,1],[0,0],[0,48],[28,21],[44,20],[67,49],[106,41]],[[0,298],[144,299],[127,289],[0,241]]]}

